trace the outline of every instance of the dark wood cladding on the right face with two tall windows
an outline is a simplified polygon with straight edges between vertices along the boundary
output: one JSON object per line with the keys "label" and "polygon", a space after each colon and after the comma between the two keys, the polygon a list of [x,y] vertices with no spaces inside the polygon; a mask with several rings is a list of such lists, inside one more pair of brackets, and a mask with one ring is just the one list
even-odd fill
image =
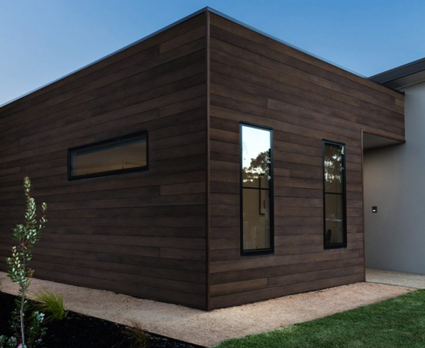
{"label": "dark wood cladding on the right face with two tall windows", "polygon": [[[364,280],[361,130],[404,140],[402,101],[211,13],[210,309]],[[273,255],[240,256],[241,121],[273,128]],[[346,143],[346,249],[323,247],[324,138]]]}

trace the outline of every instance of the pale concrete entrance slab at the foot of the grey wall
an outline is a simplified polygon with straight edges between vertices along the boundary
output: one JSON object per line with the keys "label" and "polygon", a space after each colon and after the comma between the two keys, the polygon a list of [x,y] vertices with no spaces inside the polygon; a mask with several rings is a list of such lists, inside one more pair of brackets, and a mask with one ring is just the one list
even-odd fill
{"label": "pale concrete entrance slab at the foot of the grey wall", "polygon": [[382,269],[366,269],[366,281],[369,283],[407,286],[409,288],[425,288],[425,276],[421,274],[385,271]]}

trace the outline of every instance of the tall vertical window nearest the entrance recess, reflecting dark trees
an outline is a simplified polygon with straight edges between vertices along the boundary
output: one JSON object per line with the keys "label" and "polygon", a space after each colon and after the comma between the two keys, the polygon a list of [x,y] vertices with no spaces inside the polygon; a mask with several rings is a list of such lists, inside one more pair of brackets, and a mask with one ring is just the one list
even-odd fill
{"label": "tall vertical window nearest the entrance recess, reflecting dark trees", "polygon": [[323,142],[324,248],[347,246],[345,145]]}

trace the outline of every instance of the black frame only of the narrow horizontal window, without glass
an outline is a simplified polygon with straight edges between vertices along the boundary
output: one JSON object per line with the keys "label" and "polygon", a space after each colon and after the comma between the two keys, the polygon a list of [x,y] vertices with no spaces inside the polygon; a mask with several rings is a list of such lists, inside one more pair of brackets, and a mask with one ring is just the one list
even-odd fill
{"label": "black frame only of the narrow horizontal window, without glass", "polygon": [[[117,170],[111,170],[108,172],[98,172],[98,173],[84,174],[84,175],[72,175],[72,160],[71,160],[72,152],[86,150],[94,146],[106,145],[108,144],[108,142],[127,140],[132,137],[140,137],[140,136],[146,137],[146,165],[145,166],[133,167],[133,168],[127,168],[127,169],[117,169]],[[76,147],[70,147],[68,149],[68,181],[94,179],[94,178],[101,178],[104,176],[115,176],[115,175],[135,173],[135,172],[147,172],[148,170],[149,170],[149,130],[142,130],[136,133],[121,135],[119,137],[113,137],[111,139],[101,140],[98,142],[90,142],[89,144],[80,145]]]}

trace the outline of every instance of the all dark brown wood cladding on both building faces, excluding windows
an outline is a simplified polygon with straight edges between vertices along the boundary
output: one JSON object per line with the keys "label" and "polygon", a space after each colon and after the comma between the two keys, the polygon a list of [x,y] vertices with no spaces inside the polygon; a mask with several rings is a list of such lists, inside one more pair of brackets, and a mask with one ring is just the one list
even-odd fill
{"label": "all dark brown wood cladding on both building faces, excluding windows", "polygon": [[[239,123],[273,128],[275,252],[240,256]],[[149,129],[149,171],[67,181],[67,149]],[[0,269],[23,176],[43,279],[214,309],[364,280],[362,131],[404,97],[205,11],[0,109]],[[348,247],[324,250],[322,140],[346,144]]]}

